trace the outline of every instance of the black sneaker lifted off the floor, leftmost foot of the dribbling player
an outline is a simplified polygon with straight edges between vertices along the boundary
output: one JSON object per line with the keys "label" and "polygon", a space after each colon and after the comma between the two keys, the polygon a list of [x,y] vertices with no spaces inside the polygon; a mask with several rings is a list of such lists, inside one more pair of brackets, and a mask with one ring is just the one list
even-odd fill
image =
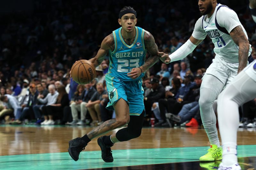
{"label": "black sneaker lifted off the floor, leftmost foot of the dribbling player", "polygon": [[68,142],[68,153],[72,159],[77,161],[79,159],[80,152],[84,151],[85,146],[87,145],[80,137],[72,139]]}

